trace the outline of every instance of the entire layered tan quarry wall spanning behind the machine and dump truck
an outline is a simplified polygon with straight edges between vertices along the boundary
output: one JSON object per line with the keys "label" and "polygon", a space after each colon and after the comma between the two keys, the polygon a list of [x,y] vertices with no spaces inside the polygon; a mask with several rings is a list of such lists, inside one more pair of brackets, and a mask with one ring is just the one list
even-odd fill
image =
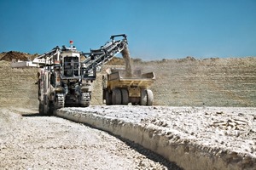
{"label": "entire layered tan quarry wall spanning behind the machine and dump truck", "polygon": [[[3,57],[3,54],[2,54]],[[154,71],[156,81],[151,87],[154,105],[166,106],[247,106],[256,107],[256,57],[234,59],[162,59],[143,62],[134,59],[133,68]],[[94,84],[91,105],[102,105],[102,74]],[[0,61],[0,107],[6,105],[37,105],[37,69],[11,69]],[[38,107],[38,106],[36,106]]]}

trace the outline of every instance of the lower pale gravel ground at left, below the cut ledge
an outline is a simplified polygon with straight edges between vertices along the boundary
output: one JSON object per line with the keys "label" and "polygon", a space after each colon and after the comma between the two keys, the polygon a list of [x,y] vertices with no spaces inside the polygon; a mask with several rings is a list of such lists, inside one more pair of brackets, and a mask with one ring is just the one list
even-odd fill
{"label": "lower pale gravel ground at left, below the cut ledge", "polygon": [[38,111],[0,109],[0,169],[179,169],[125,139]]}

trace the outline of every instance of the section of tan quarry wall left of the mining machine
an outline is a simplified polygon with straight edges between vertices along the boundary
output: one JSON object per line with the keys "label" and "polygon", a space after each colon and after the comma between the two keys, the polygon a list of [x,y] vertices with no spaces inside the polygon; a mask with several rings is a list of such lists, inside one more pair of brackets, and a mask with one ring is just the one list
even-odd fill
{"label": "section of tan quarry wall left of the mining machine", "polygon": [[0,61],[0,107],[38,108],[37,68],[12,69]]}

